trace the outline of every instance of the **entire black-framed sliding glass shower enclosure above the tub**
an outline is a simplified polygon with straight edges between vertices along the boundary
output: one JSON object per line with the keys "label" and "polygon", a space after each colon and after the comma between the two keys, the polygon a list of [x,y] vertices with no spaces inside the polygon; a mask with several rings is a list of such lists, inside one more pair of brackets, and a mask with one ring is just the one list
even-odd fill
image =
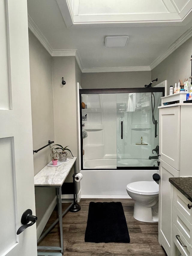
{"label": "entire black-framed sliding glass shower enclosure above the tub", "polygon": [[153,90],[79,90],[82,169],[157,169],[164,88]]}

